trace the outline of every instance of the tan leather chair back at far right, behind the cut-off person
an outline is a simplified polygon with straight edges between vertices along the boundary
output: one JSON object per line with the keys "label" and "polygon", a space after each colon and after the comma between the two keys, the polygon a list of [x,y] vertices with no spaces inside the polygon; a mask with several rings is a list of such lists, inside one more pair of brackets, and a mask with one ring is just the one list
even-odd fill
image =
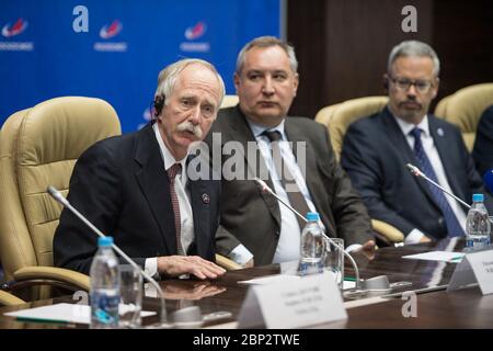
{"label": "tan leather chair back at far right, behind the cut-off person", "polygon": [[472,151],[481,114],[492,104],[493,83],[474,84],[442,99],[436,105],[435,115],[456,124],[462,132],[468,150]]}

